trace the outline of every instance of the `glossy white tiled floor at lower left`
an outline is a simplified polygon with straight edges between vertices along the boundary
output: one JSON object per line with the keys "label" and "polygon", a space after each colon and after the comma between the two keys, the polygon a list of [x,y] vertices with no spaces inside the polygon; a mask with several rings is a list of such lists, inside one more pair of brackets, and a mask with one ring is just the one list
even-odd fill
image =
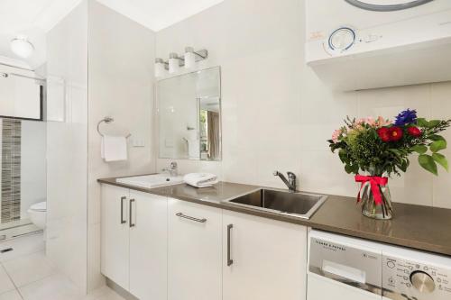
{"label": "glossy white tiled floor at lower left", "polygon": [[0,242],[0,300],[124,300],[104,286],[80,295],[77,286],[45,257],[42,234]]}

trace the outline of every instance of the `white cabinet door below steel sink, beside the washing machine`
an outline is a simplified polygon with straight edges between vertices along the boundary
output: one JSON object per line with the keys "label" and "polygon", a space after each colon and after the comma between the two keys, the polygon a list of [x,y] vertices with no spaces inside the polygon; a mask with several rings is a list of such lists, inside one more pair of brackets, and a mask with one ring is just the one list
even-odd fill
{"label": "white cabinet door below steel sink, beside the washing machine", "polygon": [[223,239],[224,300],[306,299],[306,227],[225,210]]}

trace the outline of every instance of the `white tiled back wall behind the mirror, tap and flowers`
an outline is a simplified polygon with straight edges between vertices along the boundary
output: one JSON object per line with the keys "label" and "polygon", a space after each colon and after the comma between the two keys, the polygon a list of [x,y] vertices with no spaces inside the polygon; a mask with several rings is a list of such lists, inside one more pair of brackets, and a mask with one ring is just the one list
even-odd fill
{"label": "white tiled back wall behind the mirror, tap and flowers", "polygon": [[[208,170],[227,181],[284,187],[272,171],[291,170],[303,190],[355,196],[353,177],[326,142],[346,115],[391,117],[410,107],[425,117],[451,117],[451,83],[332,92],[304,62],[304,13],[299,0],[226,0],[157,32],[157,57],[193,46],[209,50],[201,68],[222,67],[223,161],[180,160],[181,172]],[[158,159],[158,168],[169,161]],[[391,180],[392,198],[451,208],[450,180],[412,161],[406,176]]]}

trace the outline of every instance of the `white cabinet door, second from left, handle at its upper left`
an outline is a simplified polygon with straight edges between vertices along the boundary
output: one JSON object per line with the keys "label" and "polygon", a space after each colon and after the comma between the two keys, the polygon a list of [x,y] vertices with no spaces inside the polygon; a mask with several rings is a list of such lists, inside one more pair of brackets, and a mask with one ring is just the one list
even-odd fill
{"label": "white cabinet door, second from left, handle at its upper left", "polygon": [[167,299],[167,197],[130,191],[130,293],[140,300]]}

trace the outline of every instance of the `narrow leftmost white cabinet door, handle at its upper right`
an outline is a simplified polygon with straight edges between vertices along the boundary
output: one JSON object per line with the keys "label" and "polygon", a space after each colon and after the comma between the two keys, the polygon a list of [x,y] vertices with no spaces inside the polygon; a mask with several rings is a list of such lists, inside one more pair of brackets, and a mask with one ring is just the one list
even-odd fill
{"label": "narrow leftmost white cabinet door, handle at its upper right", "polygon": [[129,287],[129,190],[102,186],[102,273],[124,289]]}

